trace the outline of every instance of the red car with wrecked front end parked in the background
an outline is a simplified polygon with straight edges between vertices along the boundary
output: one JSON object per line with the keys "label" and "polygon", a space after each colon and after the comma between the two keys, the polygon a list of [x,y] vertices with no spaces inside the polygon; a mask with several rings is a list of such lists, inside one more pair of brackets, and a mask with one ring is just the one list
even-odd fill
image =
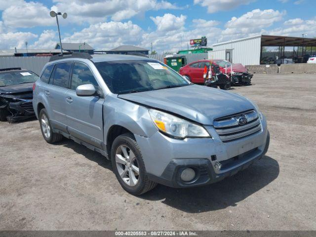
{"label": "red car with wrecked front end parked in the background", "polygon": [[[180,68],[179,73],[182,76],[185,76],[193,83],[204,83],[203,72],[204,67],[209,67],[211,64],[210,59],[198,60],[188,65]],[[231,65],[233,65],[233,83],[234,84],[250,84],[252,75],[249,75],[247,69],[242,66],[240,63],[234,64],[226,60],[222,59],[213,59],[212,64],[218,65],[219,70],[222,73],[231,73]],[[225,65],[227,65],[227,69],[225,72]]]}

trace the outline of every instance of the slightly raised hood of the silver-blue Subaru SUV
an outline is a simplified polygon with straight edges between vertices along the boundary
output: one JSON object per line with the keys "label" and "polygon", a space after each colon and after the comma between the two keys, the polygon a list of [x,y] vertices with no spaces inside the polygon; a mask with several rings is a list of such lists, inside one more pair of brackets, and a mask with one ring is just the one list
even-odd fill
{"label": "slightly raised hood of the silver-blue Subaru SUV", "polygon": [[118,98],[212,125],[215,118],[255,109],[246,98],[201,85],[120,94]]}

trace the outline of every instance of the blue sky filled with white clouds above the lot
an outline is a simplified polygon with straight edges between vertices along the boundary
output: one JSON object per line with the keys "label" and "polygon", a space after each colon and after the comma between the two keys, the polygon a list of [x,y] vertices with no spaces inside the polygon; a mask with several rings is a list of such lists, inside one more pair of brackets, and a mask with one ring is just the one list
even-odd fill
{"label": "blue sky filled with white clouds above the lot", "polygon": [[[313,4],[314,3],[314,4]],[[0,0],[0,48],[53,48],[49,11],[60,19],[64,42],[96,49],[134,44],[178,51],[190,39],[208,44],[257,34],[316,37],[315,0]]]}

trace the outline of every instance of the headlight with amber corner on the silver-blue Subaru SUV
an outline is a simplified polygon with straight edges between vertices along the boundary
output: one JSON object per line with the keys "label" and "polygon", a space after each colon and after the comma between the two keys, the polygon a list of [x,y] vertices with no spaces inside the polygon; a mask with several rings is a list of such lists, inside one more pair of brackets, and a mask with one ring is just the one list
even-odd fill
{"label": "headlight with amber corner on the silver-blue Subaru SUV", "polygon": [[149,115],[159,131],[174,138],[210,137],[204,127],[185,119],[154,109],[149,109]]}

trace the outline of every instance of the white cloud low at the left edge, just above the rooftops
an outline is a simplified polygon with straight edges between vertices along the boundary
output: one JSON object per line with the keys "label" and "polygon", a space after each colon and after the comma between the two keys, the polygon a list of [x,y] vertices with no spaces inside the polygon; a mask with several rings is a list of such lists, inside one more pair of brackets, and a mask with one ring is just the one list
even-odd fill
{"label": "white cloud low at the left edge, just above the rooftops", "polygon": [[38,36],[30,32],[8,32],[0,34],[0,48],[24,48],[25,41],[34,40]]}

